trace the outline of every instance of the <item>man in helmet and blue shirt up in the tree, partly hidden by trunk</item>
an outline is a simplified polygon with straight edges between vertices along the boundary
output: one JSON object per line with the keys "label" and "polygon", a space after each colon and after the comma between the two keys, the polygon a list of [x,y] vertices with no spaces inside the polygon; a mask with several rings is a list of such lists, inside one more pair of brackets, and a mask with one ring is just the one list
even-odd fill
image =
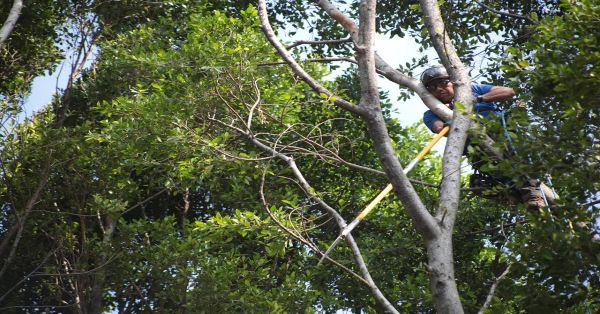
{"label": "man in helmet and blue shirt up in the tree, partly hidden by trunk", "polygon": [[[431,92],[438,100],[440,100],[448,108],[454,110],[454,86],[450,80],[448,72],[443,66],[433,66],[425,70],[421,74],[421,82],[429,92]],[[475,113],[484,119],[497,117],[502,119],[504,111],[496,104],[497,101],[508,100],[515,96],[515,91],[510,87],[493,86],[487,84],[471,84],[473,96],[476,102],[473,105]],[[445,125],[445,122],[435,115],[431,110],[427,110],[423,114],[423,122],[434,133],[439,133]],[[504,126],[505,127],[505,126]],[[553,197],[553,192],[543,183],[538,183],[537,180],[532,180],[529,177],[523,181],[526,183],[521,188],[516,188],[514,180],[500,173],[485,173],[480,170],[485,158],[477,154],[470,156],[472,166],[475,169],[474,178],[471,179],[471,184],[482,181],[493,181],[495,185],[503,185],[508,187],[504,193],[509,202],[521,199],[529,208],[537,209],[545,205],[544,196],[550,202]],[[487,182],[489,183],[489,182]],[[482,185],[482,184],[475,184]],[[487,186],[487,184],[483,184]],[[544,190],[542,192],[542,189]],[[543,193],[543,194],[542,194]],[[484,194],[485,195],[485,194]]]}

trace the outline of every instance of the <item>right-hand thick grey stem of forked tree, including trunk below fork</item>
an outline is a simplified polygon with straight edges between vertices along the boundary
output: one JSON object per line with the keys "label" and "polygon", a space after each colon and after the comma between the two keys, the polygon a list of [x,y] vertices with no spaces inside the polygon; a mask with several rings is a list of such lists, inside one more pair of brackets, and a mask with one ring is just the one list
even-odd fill
{"label": "right-hand thick grey stem of forked tree, including trunk below fork", "polygon": [[[469,113],[473,102],[470,78],[446,32],[439,4],[437,0],[420,0],[420,4],[429,37],[454,83],[454,99],[464,104],[466,112]],[[440,206],[436,212],[442,232],[439,238],[426,242],[430,286],[438,313],[464,312],[454,278],[452,230],[460,197],[460,159],[470,124],[471,120],[467,115],[454,112],[452,128],[444,150]]]}

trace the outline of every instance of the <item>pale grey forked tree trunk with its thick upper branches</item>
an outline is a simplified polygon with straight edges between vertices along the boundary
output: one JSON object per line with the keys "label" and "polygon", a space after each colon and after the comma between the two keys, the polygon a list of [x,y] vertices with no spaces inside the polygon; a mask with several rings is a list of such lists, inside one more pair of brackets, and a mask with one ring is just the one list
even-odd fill
{"label": "pale grey forked tree trunk with its thick upper branches", "polygon": [[[263,2],[263,1],[259,1]],[[467,131],[471,127],[468,114],[471,112],[473,96],[471,94],[470,77],[465,70],[441,18],[439,6],[435,0],[420,0],[425,24],[442,63],[448,70],[455,85],[455,100],[466,106],[465,112],[453,112],[445,107],[417,79],[408,77],[389,66],[373,50],[375,34],[375,0],[362,0],[360,4],[360,27],[337,10],[329,1],[318,0],[315,3],[332,19],[343,26],[355,43],[357,64],[361,84],[361,99],[358,106],[349,102],[336,101],[339,107],[359,115],[367,124],[373,146],[379,156],[383,169],[394,187],[415,227],[424,236],[427,248],[431,291],[434,306],[438,313],[463,313],[456,281],[454,278],[452,232],[459,206],[460,197],[460,160],[464,151]],[[264,12],[261,12],[264,14]],[[264,27],[264,25],[263,25]],[[300,67],[291,55],[274,43],[280,55],[291,65],[296,74],[305,80],[313,90],[323,89],[312,78],[302,74]],[[415,192],[402,166],[396,157],[385,125],[379,103],[377,89],[377,73],[399,85],[414,90],[423,102],[443,120],[453,120],[450,135],[443,157],[443,180],[441,183],[440,205],[431,215]],[[302,74],[302,75],[300,75]],[[329,91],[326,91],[330,95]],[[484,145],[485,150],[498,159],[502,154],[491,147],[491,141]]]}

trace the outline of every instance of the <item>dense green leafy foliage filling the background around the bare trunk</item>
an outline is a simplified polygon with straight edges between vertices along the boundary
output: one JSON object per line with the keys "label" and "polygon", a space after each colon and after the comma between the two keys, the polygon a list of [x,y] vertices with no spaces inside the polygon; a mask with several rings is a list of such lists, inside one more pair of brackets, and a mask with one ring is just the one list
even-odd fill
{"label": "dense green leafy foliage filling the background around the bare trunk", "polygon": [[[90,22],[84,37],[93,38],[97,58],[30,119],[3,111],[0,310],[380,311],[360,280],[317,266],[316,253],[284,230],[321,247],[339,232],[288,165],[244,135],[251,130],[293,156],[314,193],[350,220],[386,184],[366,127],[277,64],[250,2],[87,1],[68,7],[73,15],[62,21],[53,18],[64,9],[55,2],[32,2],[44,22],[22,22],[9,45],[19,57],[0,61],[12,62],[0,68],[3,109],[19,104],[31,78],[58,61],[54,41],[85,43],[75,40],[81,21]],[[312,27],[319,36],[343,37],[325,19],[307,19],[314,8],[302,1],[271,5],[286,31]],[[420,38],[416,2],[381,1],[380,9],[381,32]],[[514,1],[504,8],[530,16],[519,19],[526,23],[462,1],[443,9],[466,61],[482,43],[498,54],[513,46],[510,59],[489,65],[487,78],[503,73],[519,89],[527,107],[513,113],[511,123],[521,127],[513,133],[515,158],[531,158],[499,167],[548,173],[561,195],[549,210],[528,212],[463,193],[454,243],[465,311],[480,309],[509,265],[488,311],[597,311],[598,5]],[[493,43],[491,33],[506,41]],[[401,69],[426,62],[413,61]],[[318,78],[328,72],[317,63],[305,67]],[[357,100],[357,81],[349,67],[326,84]],[[396,104],[386,93],[381,99],[397,154],[408,162],[429,134],[400,126]],[[14,129],[6,127],[11,121]],[[430,208],[438,202],[440,166],[433,154],[411,173],[430,183],[415,185]],[[397,200],[386,199],[353,235],[401,312],[433,311],[422,239]],[[332,257],[356,271],[347,246]]]}

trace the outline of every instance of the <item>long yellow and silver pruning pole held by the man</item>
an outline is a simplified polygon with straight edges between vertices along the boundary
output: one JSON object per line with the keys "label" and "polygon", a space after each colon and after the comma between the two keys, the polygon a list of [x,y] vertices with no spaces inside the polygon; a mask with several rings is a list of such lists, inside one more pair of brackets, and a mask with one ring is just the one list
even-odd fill
{"label": "long yellow and silver pruning pole held by the man", "polygon": [[[417,163],[419,163],[419,161],[421,161],[423,159],[423,157],[425,157],[425,155],[427,155],[427,153],[429,153],[429,151],[431,150],[431,148],[433,147],[433,145],[435,145],[442,137],[444,137],[444,135],[446,135],[446,133],[448,133],[448,131],[450,130],[450,126],[445,126],[440,133],[438,133],[432,140],[431,142],[429,142],[424,148],[423,150],[421,150],[421,152],[417,155],[417,157],[415,157],[415,159],[411,160],[410,163],[408,165],[406,165],[406,168],[404,168],[404,174],[409,173]],[[392,184],[388,184],[385,189],[383,189],[383,191],[381,191],[379,193],[379,195],[377,195],[372,201],[371,203],[369,203],[369,205],[367,205],[367,207],[365,207],[365,209],[363,209],[363,211],[358,214],[358,216],[356,216],[356,218],[354,218],[354,220],[352,220],[352,222],[347,225],[344,229],[342,229],[342,232],[340,232],[340,235],[335,239],[335,241],[333,241],[333,243],[331,244],[331,246],[327,249],[327,251],[325,251],[325,254],[323,254],[323,257],[321,257],[321,259],[319,260],[319,264],[321,264],[321,262],[323,262],[323,260],[327,257],[327,255],[329,255],[329,253],[331,252],[331,250],[333,250],[333,248],[338,245],[338,243],[345,238],[354,228],[356,228],[356,226],[360,223],[361,220],[363,220],[372,210],[373,208],[375,208],[375,206],[377,206],[377,204],[379,204],[379,202],[381,202],[381,200],[386,197],[388,195],[388,193],[390,193],[390,191],[392,191]]]}

